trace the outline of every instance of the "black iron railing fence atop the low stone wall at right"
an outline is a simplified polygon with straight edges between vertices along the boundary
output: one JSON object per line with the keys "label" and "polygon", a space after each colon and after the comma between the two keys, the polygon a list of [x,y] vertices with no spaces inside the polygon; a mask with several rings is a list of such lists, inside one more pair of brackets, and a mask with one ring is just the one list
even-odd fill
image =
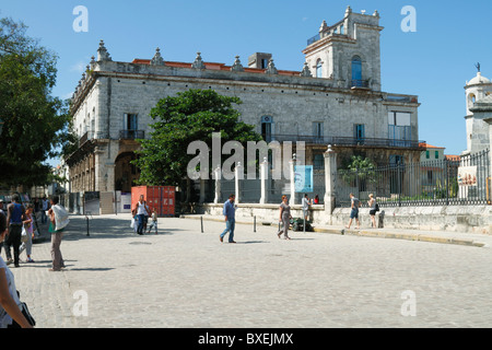
{"label": "black iron railing fence atop the low stone wall at right", "polygon": [[380,207],[489,205],[489,150],[459,161],[436,160],[389,164],[366,170],[340,170],[336,207],[350,207],[350,194],[367,206],[373,194]]}

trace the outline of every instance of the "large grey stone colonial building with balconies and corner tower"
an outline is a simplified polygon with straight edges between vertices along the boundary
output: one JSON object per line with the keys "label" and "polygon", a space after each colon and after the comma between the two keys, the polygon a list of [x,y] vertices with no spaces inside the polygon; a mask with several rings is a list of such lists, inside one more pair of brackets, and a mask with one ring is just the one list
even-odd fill
{"label": "large grey stone colonial building with balconies and corner tower", "polygon": [[306,163],[319,168],[328,144],[339,162],[352,154],[378,164],[419,161],[418,97],[382,91],[382,31],[377,11],[348,8],[308,39],[300,71],[278,69],[267,52],[251,55],[247,67],[239,57],[231,66],[207,62],[200,52],[176,62],[159,48],[152,59],[120,62],[101,42],[71,101],[80,137],[67,159],[72,191],[129,191],[139,176],[130,164],[136,139],[150,137],[151,108],[189,89],[238,96],[243,121],[267,142],[305,141]]}

